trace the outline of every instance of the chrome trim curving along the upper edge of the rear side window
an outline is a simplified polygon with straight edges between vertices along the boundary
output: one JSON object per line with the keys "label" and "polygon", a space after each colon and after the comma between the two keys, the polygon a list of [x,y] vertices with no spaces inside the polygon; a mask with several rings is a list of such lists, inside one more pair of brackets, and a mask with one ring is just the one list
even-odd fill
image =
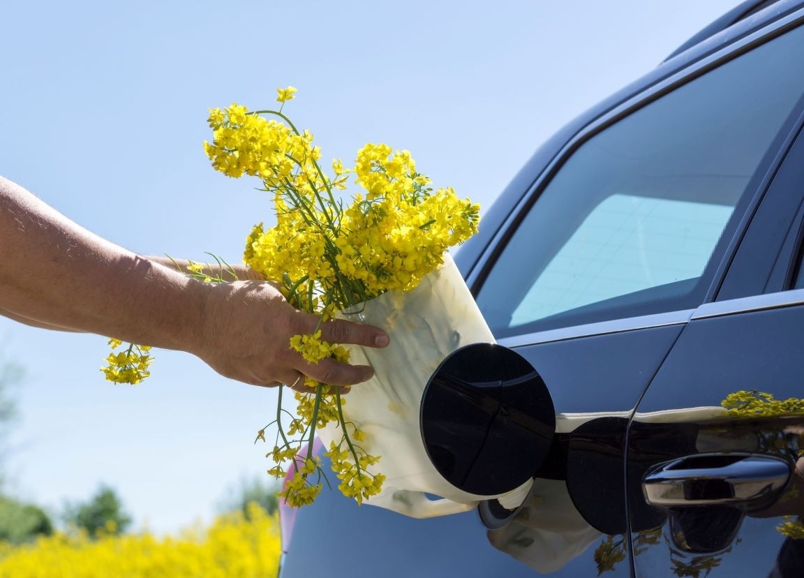
{"label": "chrome trim curving along the upper edge of the rear side window", "polygon": [[[500,228],[498,228],[498,231],[486,245],[486,248],[484,248],[480,256],[478,256],[478,260],[476,260],[472,265],[470,272],[466,277],[466,283],[472,288],[473,293],[477,294],[478,290],[480,289],[478,286],[479,277],[481,274],[485,274],[491,257],[495,254],[495,252],[498,251],[498,246],[507,240],[513,223],[520,219],[521,215],[523,215],[523,211],[530,210],[534,201],[533,197],[541,191],[546,182],[552,180],[556,171],[560,170],[560,166],[563,166],[564,162],[566,162],[566,160],[572,156],[577,148],[583,145],[585,141],[588,141],[589,138],[606,129],[609,125],[613,125],[621,118],[634,113],[643,106],[649,105],[651,101],[656,100],[669,92],[672,92],[676,88],[679,88],[679,86],[687,84],[687,82],[690,82],[691,80],[695,80],[695,78],[698,76],[703,76],[706,72],[719,67],[721,64],[728,62],[728,60],[736,58],[736,56],[740,55],[741,52],[749,50],[749,47],[752,44],[764,43],[767,39],[771,39],[776,35],[783,34],[786,29],[792,29],[802,22],[804,22],[804,8],[794,10],[794,12],[791,12],[782,18],[778,18],[772,23],[769,23],[767,26],[762,27],[757,31],[753,31],[748,35],[745,35],[745,37],[732,43],[728,43],[726,46],[720,48],[720,50],[712,51],[710,54],[705,55],[701,59],[696,60],[693,64],[690,64],[689,66],[672,73],[670,76],[666,76],[662,80],[658,80],[658,82],[655,84],[652,84],[644,90],[637,92],[634,94],[634,96],[631,96],[627,100],[621,102],[620,105],[613,107],[613,109],[610,109],[600,117],[597,117],[593,121],[589,122],[589,124],[585,125],[583,129],[580,129],[578,133],[576,133],[564,144],[552,161],[544,167],[544,170],[542,170],[540,174],[535,175],[535,181],[531,187],[527,190],[526,194],[519,199],[519,202],[515,204],[507,216],[507,219],[503,221]],[[714,35],[710,41],[715,42],[716,38],[720,40],[720,35],[728,35],[728,33],[729,29],[727,28],[717,35]],[[749,209],[749,211],[751,211],[751,209]],[[740,223],[738,230],[735,232],[736,238],[739,238],[742,235],[746,224],[747,223],[745,222]],[[727,253],[730,254],[731,252],[733,252],[733,247],[729,246]],[[721,267],[716,272],[716,278],[720,279],[723,277],[723,275],[724,268]]]}

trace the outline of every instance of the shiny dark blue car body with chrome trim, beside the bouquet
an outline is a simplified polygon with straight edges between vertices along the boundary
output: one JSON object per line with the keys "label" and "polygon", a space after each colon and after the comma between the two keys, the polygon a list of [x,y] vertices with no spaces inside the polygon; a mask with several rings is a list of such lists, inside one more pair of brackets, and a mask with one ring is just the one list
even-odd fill
{"label": "shiny dark blue car body with chrome trim, beside the bouquet", "polygon": [[325,491],[281,576],[804,576],[802,73],[804,2],[744,2],[544,143],[455,256],[572,418],[531,496]]}

